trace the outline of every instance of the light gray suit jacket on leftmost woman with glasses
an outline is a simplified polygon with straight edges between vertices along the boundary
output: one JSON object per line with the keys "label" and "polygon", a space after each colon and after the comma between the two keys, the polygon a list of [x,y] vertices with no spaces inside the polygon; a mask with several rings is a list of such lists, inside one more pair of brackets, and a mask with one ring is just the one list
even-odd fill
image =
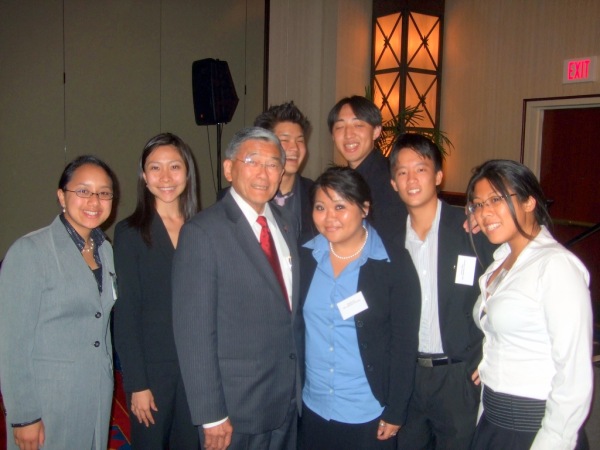
{"label": "light gray suit jacket on leftmost woman with glasses", "polygon": [[[58,217],[17,240],[0,271],[0,383],[7,423],[41,417],[44,448],[107,447],[115,270],[108,241],[99,251],[102,295]],[[16,448],[12,439],[8,448]]]}

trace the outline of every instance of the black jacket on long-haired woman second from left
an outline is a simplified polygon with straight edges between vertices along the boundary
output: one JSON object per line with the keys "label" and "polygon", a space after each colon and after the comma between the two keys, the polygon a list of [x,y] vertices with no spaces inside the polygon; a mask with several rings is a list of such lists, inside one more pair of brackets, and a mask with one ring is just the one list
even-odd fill
{"label": "black jacket on long-haired woman second from left", "polygon": [[152,246],[127,220],[115,228],[119,300],[114,308],[115,347],[127,392],[148,389],[147,364],[177,363],[173,337],[171,265],[175,249],[162,220],[154,215]]}

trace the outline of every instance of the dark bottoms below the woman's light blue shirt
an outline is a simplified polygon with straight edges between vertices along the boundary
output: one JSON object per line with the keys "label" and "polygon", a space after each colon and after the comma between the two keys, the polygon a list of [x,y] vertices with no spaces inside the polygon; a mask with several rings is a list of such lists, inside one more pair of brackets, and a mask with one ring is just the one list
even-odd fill
{"label": "dark bottoms below the woman's light blue shirt", "polygon": [[393,450],[396,438],[377,439],[379,418],[350,424],[325,420],[306,405],[300,419],[300,450]]}

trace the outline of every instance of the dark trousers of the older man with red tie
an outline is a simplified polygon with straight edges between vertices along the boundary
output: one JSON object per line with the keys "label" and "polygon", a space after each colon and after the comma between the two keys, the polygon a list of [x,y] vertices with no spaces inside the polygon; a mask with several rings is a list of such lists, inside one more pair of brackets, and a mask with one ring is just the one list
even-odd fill
{"label": "dark trousers of the older man with red tie", "polygon": [[[268,412],[267,412],[268,413]],[[264,412],[260,412],[264,414]],[[298,405],[296,399],[290,401],[290,407],[283,424],[275,430],[261,434],[246,434],[235,431],[227,450],[296,450],[298,446]],[[204,448],[204,431],[199,428],[202,448]]]}

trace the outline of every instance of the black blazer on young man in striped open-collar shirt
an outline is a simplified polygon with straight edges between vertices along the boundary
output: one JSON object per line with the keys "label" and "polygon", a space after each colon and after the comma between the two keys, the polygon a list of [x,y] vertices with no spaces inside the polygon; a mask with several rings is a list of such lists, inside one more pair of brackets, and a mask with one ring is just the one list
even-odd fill
{"label": "black blazer on young man in striped open-collar shirt", "polygon": [[[473,305],[479,296],[479,277],[493,261],[495,246],[483,233],[473,236],[477,255],[469,233],[463,229],[466,219],[463,208],[442,201],[438,230],[438,308],[444,352],[453,359],[465,361],[473,371],[481,361],[483,334],[473,320]],[[395,242],[404,247],[406,220],[398,224]],[[459,255],[478,256],[473,286],[456,284],[456,264]]]}

